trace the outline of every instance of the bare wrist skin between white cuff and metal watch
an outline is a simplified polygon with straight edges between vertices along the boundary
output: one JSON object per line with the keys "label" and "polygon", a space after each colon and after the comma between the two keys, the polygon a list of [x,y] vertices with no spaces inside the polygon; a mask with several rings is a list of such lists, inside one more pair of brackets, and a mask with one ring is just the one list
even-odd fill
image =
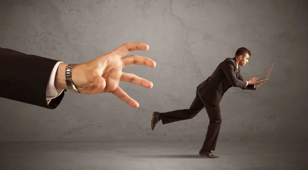
{"label": "bare wrist skin between white cuff and metal watch", "polygon": [[65,68],[68,64],[61,63],[56,70],[55,73],[55,80],[54,80],[54,87],[57,90],[68,89],[66,82],[65,82]]}

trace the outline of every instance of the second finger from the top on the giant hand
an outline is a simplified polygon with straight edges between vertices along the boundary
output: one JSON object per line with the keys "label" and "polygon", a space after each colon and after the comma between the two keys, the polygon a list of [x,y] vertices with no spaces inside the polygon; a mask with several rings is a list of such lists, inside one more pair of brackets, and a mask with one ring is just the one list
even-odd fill
{"label": "second finger from the top on the giant hand", "polygon": [[156,67],[156,62],[145,56],[130,55],[130,56],[125,56],[121,60],[123,62],[124,67],[131,66],[134,64]]}

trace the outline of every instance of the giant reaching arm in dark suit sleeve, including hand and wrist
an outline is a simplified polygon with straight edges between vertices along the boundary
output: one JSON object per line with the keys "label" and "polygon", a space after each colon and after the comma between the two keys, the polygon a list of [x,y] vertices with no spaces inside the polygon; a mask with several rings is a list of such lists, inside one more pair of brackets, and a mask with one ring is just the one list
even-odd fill
{"label": "giant reaching arm in dark suit sleeve, including hand and wrist", "polygon": [[[60,63],[59,66],[56,66],[59,61],[0,48],[0,85],[2,86],[0,97],[46,108],[55,108],[64,96],[64,92],[61,92],[60,95],[59,92],[68,89],[66,79],[69,78],[79,93],[111,92],[128,105],[138,108],[139,103],[129,97],[119,86],[119,83],[124,81],[146,88],[153,87],[152,82],[138,77],[136,74],[122,71],[124,67],[132,65],[156,67],[156,62],[145,56],[125,56],[131,51],[146,51],[148,49],[147,44],[125,43],[94,60],[74,65],[70,71],[66,72],[68,64]],[[54,84],[54,87],[48,86],[50,81],[54,81],[51,83],[51,85]],[[55,98],[47,104],[50,100],[48,97],[50,91],[47,89],[54,90],[54,88],[57,91],[55,93],[59,96],[52,95],[51,98]]]}

